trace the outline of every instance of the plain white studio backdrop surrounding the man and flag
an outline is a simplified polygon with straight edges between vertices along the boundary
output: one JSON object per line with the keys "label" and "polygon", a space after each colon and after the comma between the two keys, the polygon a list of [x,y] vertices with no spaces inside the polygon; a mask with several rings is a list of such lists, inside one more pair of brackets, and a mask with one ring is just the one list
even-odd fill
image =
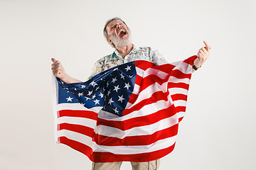
{"label": "plain white studio backdrop surrounding the man and flag", "polygon": [[196,55],[203,40],[212,47],[193,73],[176,148],[160,169],[256,169],[255,11],[255,0],[0,0],[0,169],[91,169],[85,155],[55,144],[50,58],[86,81],[113,51],[102,28],[114,16],[135,45],[169,62]]}

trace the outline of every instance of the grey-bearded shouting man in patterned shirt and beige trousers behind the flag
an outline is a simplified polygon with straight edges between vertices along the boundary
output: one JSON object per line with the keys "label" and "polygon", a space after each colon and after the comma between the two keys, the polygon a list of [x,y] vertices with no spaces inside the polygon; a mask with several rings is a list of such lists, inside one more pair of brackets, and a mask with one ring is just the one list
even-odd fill
{"label": "grey-bearded shouting man in patterned shirt and beige trousers behind the flag", "polygon": [[[153,62],[156,65],[167,63],[163,55],[161,55],[161,53],[159,53],[157,50],[153,50],[151,47],[137,47],[136,45],[133,45],[131,31],[121,18],[111,18],[109,21],[107,21],[105,23],[103,33],[107,42],[114,47],[115,50],[111,55],[102,57],[95,63],[90,78],[94,77],[100,72],[104,72],[106,69],[135,60],[146,60]],[[198,50],[197,58],[193,63],[193,71],[201,67],[203,62],[205,62],[210,55],[210,46],[206,41],[204,41],[204,44],[206,47],[202,47],[200,50]],[[55,59],[52,59],[52,61],[52,70],[55,77],[58,77],[66,84],[81,82],[77,79],[69,77],[68,74],[65,73],[63,66],[59,61]],[[122,162],[93,162],[92,170],[115,170],[119,169],[121,164]],[[134,170],[153,170],[159,169],[160,160],[157,159],[151,162],[131,162],[131,164],[132,169]]]}

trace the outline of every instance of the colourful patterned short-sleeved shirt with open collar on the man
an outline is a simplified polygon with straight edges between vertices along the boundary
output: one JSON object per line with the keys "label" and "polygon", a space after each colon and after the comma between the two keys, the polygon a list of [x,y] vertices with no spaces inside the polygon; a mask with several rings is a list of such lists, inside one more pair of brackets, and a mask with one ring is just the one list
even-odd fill
{"label": "colourful patterned short-sleeved shirt with open collar on the man", "polygon": [[153,62],[156,65],[166,64],[167,61],[164,59],[163,55],[157,51],[152,50],[151,47],[137,47],[134,45],[134,48],[127,56],[122,58],[121,55],[114,50],[111,55],[107,55],[102,57],[100,60],[97,60],[95,63],[92,74],[90,75],[89,79],[94,77],[95,75],[99,74],[100,72],[104,72],[111,67],[115,67],[120,64],[124,64],[127,62],[133,62],[136,60],[146,60],[149,62]]}

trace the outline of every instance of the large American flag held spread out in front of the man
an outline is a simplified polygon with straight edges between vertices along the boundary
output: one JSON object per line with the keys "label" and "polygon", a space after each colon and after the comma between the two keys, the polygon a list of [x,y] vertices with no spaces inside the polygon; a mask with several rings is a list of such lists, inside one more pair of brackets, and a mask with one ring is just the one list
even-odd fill
{"label": "large American flag held spread out in front of the man", "polygon": [[174,149],[186,111],[192,64],[134,61],[89,81],[53,77],[55,140],[92,162],[149,162]]}

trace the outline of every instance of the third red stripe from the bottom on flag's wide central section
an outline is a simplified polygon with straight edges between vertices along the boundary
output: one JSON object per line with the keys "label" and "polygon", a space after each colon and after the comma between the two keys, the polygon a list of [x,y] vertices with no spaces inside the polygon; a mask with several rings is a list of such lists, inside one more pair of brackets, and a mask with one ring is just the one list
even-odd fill
{"label": "third red stripe from the bottom on flag's wide central section", "polygon": [[105,125],[108,127],[117,128],[119,130],[129,130],[132,128],[157,123],[160,120],[170,118],[175,114],[176,114],[176,108],[174,108],[174,105],[172,105],[169,108],[165,108],[161,111],[157,111],[156,113],[140,116],[137,118],[130,118],[128,120],[114,121],[114,120],[104,120],[104,119],[98,118],[97,125]]}

